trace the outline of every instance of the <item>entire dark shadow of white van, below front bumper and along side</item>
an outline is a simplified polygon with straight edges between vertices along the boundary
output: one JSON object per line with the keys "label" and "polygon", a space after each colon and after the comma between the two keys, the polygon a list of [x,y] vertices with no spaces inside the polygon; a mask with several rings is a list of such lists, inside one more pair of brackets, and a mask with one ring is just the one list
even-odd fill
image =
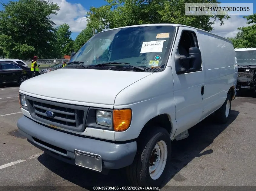
{"label": "entire dark shadow of white van, below front bumper and along side", "polygon": [[[194,158],[214,153],[211,149],[202,151],[211,145],[213,140],[237,118],[238,114],[238,111],[231,110],[230,118],[224,125],[214,123],[214,115],[211,115],[189,129],[188,138],[173,141],[171,163],[168,166],[168,173],[162,187],[172,178],[176,181],[185,181],[186,178],[178,174],[178,172]],[[48,154],[39,156],[38,161],[63,179],[88,190],[93,190],[93,186],[119,186],[119,188],[121,186],[130,186],[124,169],[111,170],[108,175],[103,175],[58,161]],[[56,185],[55,180],[51,179],[51,172],[47,173],[49,174],[45,174],[42,177],[48,178],[46,180],[44,178],[42,181],[47,182],[48,185]],[[43,185],[43,182],[40,184]]]}

